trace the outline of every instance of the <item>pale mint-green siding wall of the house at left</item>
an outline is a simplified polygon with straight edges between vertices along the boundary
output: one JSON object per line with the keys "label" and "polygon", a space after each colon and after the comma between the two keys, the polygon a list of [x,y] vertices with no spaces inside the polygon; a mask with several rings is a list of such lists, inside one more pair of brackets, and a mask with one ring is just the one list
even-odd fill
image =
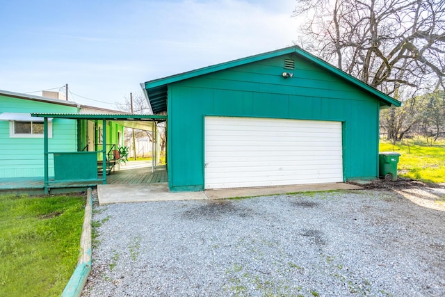
{"label": "pale mint-green siding wall of the house at left", "polygon": [[[0,95],[1,113],[76,113],[74,106],[36,102]],[[77,150],[76,120],[54,119],[50,152]],[[0,120],[0,178],[42,177],[44,175],[43,138],[10,138],[9,121]],[[54,161],[49,155],[49,175],[54,175]]]}

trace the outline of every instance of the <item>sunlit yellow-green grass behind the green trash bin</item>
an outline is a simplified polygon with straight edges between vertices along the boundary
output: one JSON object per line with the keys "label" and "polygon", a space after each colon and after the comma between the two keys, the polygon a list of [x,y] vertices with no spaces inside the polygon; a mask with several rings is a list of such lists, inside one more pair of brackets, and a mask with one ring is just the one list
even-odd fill
{"label": "sunlit yellow-green grass behind the green trash bin", "polygon": [[404,140],[392,145],[380,140],[380,152],[394,151],[401,154],[398,170],[401,177],[428,183],[445,182],[445,145],[428,145],[421,139]]}

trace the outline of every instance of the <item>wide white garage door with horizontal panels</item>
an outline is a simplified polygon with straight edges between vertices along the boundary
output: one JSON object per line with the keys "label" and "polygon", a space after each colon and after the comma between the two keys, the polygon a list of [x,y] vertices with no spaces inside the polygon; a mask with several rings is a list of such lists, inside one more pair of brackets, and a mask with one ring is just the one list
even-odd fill
{"label": "wide white garage door with horizontal panels", "polygon": [[341,122],[205,118],[205,188],[343,182]]}

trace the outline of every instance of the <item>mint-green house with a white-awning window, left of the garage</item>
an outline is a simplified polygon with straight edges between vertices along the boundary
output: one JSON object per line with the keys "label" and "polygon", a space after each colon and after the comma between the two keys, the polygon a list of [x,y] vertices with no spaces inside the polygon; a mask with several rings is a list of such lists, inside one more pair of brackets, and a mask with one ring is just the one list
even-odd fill
{"label": "mint-green house with a white-awning window, left of the garage", "polygon": [[[43,180],[44,118],[31,116],[33,113],[69,115],[115,111],[0,90],[0,143],[3,152],[0,155],[0,179],[41,177]],[[124,127],[113,121],[106,121],[105,125],[104,139],[102,120],[47,118],[47,175],[53,180],[55,177],[63,181],[97,179],[97,163],[104,156],[102,151],[117,150],[123,145]],[[66,163],[67,160],[70,162]],[[86,160],[88,163],[84,162]]]}

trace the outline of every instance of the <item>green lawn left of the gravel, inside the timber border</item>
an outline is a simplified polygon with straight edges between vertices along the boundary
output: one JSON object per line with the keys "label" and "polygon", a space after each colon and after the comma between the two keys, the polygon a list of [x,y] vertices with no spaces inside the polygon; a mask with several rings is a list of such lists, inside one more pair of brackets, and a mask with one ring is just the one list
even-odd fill
{"label": "green lawn left of the gravel, inside the timber border", "polygon": [[0,296],[60,296],[79,257],[86,198],[0,195]]}

